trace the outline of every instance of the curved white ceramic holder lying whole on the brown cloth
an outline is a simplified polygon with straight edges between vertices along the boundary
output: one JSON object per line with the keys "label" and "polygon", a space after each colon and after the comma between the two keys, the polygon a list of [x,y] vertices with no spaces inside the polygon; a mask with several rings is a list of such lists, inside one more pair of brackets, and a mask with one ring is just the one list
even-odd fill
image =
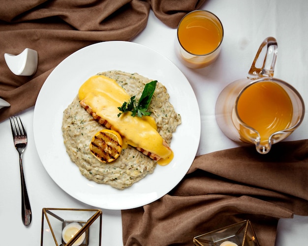
{"label": "curved white ceramic holder lying whole on the brown cloth", "polygon": [[4,54],[8,68],[15,75],[30,76],[36,72],[38,55],[37,51],[26,48],[19,55]]}

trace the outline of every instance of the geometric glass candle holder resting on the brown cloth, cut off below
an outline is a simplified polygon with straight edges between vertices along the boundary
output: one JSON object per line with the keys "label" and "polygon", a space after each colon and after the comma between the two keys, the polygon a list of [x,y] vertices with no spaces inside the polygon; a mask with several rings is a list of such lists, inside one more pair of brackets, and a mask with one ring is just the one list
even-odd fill
{"label": "geometric glass candle holder resting on the brown cloth, cut off below", "polygon": [[196,246],[259,246],[249,220],[244,220],[193,238]]}

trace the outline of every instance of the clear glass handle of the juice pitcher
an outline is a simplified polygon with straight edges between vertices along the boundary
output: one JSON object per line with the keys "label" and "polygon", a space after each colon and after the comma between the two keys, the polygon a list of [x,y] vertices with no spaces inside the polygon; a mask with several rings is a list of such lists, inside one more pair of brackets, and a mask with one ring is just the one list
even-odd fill
{"label": "clear glass handle of the juice pitcher", "polygon": [[[255,67],[256,62],[261,59],[259,56],[263,49],[266,48],[266,54],[263,60],[262,68]],[[276,63],[277,57],[277,41],[274,37],[267,37],[264,39],[262,44],[259,47],[259,50],[254,57],[250,70],[248,72],[249,75],[253,77],[273,77],[274,76],[274,67]]]}

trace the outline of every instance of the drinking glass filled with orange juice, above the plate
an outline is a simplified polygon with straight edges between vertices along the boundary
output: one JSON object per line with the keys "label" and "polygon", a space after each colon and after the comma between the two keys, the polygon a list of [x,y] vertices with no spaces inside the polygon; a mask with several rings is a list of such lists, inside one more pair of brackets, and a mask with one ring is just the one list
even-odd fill
{"label": "drinking glass filled with orange juice, above the plate", "polygon": [[176,53],[185,66],[203,68],[216,60],[223,39],[223,27],[213,13],[195,10],[178,26]]}

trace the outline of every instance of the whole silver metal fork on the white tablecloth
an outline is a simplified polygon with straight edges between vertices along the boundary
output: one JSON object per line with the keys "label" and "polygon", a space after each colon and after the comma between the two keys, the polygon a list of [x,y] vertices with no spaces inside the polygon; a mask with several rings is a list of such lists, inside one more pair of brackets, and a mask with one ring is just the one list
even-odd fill
{"label": "whole silver metal fork on the white tablecloth", "polygon": [[14,145],[19,153],[19,167],[20,167],[20,178],[21,178],[21,190],[22,190],[22,219],[24,225],[28,226],[31,223],[32,213],[31,206],[29,202],[28,192],[26,188],[26,182],[23,170],[23,153],[28,143],[26,129],[20,117],[12,116],[10,117],[11,129],[14,139]]}

